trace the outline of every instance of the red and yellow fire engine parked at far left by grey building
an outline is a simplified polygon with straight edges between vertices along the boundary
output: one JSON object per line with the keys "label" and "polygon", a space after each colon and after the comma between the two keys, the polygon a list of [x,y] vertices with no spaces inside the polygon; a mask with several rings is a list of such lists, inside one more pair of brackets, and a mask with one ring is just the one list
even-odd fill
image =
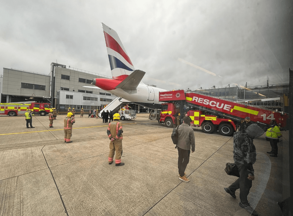
{"label": "red and yellow fire engine parked at far left by grey building", "polygon": [[50,111],[50,104],[46,103],[1,103],[0,104],[0,115],[24,115],[27,110],[30,109],[32,113],[38,115],[46,115]]}

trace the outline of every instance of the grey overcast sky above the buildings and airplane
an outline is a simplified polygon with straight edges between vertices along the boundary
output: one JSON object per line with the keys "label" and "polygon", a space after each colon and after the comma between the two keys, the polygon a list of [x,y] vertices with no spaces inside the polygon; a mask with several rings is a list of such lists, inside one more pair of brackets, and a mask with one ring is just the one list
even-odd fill
{"label": "grey overcast sky above the buildings and airplane", "polygon": [[288,83],[290,0],[0,0],[0,73],[51,62],[111,76],[102,22],[163,89]]}

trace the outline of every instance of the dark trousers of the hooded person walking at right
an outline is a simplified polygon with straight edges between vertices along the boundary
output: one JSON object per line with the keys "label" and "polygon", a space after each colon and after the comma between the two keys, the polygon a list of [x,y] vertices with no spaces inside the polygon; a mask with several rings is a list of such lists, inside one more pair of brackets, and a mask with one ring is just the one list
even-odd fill
{"label": "dark trousers of the hooded person walking at right", "polygon": [[237,165],[240,178],[238,178],[234,183],[232,183],[229,186],[229,189],[234,192],[235,190],[240,189],[239,197],[241,203],[248,204],[247,196],[252,186],[252,181],[247,178],[249,171],[247,170],[247,168],[245,168],[243,164],[240,164],[238,162],[235,163]]}

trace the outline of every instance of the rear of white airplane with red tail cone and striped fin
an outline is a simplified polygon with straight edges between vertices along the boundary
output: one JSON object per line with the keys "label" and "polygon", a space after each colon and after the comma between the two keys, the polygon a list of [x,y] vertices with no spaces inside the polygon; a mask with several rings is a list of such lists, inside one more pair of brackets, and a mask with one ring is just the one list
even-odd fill
{"label": "rear of white airplane with red tail cone and striped fin", "polygon": [[144,107],[159,108],[159,92],[165,89],[141,82],[145,72],[134,68],[116,31],[102,24],[112,79],[96,78],[92,84]]}

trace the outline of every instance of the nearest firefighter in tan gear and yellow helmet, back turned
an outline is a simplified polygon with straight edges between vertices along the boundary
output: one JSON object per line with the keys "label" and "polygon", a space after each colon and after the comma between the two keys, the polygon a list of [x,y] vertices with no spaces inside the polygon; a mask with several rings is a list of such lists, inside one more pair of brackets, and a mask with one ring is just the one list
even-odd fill
{"label": "nearest firefighter in tan gear and yellow helmet, back turned", "polygon": [[116,151],[115,164],[116,166],[123,166],[124,163],[121,163],[122,156],[122,123],[119,121],[120,115],[115,113],[113,115],[113,122],[109,123],[109,127],[107,129],[107,134],[110,141],[110,152],[108,156],[109,164],[113,163],[114,154]]}

